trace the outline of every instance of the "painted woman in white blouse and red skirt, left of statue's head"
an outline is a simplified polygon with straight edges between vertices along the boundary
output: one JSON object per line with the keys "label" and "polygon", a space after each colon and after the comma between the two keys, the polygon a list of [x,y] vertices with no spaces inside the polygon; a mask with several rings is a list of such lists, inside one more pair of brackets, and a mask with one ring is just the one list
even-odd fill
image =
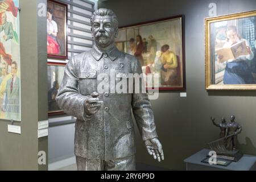
{"label": "painted woman in white blouse and red skirt, left of statue's head", "polygon": [[53,10],[47,9],[47,53],[59,55],[60,46],[57,42],[58,26],[53,20]]}

